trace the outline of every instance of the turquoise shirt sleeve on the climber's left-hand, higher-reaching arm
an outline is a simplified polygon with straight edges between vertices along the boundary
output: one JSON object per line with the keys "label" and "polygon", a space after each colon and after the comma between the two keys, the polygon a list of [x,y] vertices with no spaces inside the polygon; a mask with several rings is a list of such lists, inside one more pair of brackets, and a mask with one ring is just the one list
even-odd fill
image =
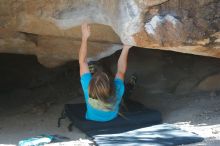
{"label": "turquoise shirt sleeve on the climber's left-hand, higher-reaching arm", "polygon": [[82,85],[82,89],[83,89],[86,102],[88,101],[88,98],[89,98],[89,83],[91,79],[92,79],[91,73],[84,73],[80,78],[80,82]]}

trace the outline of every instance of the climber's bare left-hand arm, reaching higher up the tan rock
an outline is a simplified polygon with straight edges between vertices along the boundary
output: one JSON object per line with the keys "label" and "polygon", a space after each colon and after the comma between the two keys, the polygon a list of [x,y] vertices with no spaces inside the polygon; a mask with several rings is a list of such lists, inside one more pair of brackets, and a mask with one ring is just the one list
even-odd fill
{"label": "climber's bare left-hand arm, reaching higher up the tan rock", "polygon": [[90,27],[87,23],[81,25],[82,29],[82,43],[79,50],[79,67],[80,67],[80,76],[84,73],[89,72],[89,67],[87,63],[87,40],[90,36]]}

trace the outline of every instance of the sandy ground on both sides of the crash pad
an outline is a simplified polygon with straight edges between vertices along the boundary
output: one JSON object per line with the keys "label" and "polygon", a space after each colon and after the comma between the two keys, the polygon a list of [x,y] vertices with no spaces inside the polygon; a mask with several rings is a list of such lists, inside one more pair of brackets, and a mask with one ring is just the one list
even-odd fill
{"label": "sandy ground on both sides of the crash pad", "polygon": [[[43,86],[29,94],[42,93],[46,90],[48,92],[54,92],[54,88]],[[21,106],[13,103],[14,108],[8,108],[10,105],[7,103],[7,107],[1,106],[0,144],[17,144],[21,139],[40,134],[67,136],[71,138],[72,143],[75,140],[86,139],[86,135],[77,128],[74,128],[73,132],[67,130],[68,120],[64,120],[61,128],[57,128],[57,118],[60,115],[63,104],[83,102],[83,97],[81,95],[78,96],[81,94],[80,90],[78,89],[76,91],[79,93],[76,94],[74,91],[69,92],[68,95],[65,93],[63,96],[60,96],[61,99],[53,100],[49,98],[46,105],[35,104],[31,102],[33,99],[23,98],[22,100],[26,100],[25,105]],[[11,92],[10,96],[16,96],[18,94],[20,94],[19,96],[21,94],[27,95],[28,92],[28,90],[20,89]],[[66,91],[59,90],[59,92],[64,93]],[[140,89],[137,88],[136,92],[140,92]],[[72,99],[70,98],[71,96]],[[220,96],[218,93],[200,93],[182,97],[173,95],[149,95],[148,97],[141,98],[134,92],[132,98],[134,96],[146,106],[161,111],[164,122],[174,123],[184,130],[195,132],[205,138],[204,142],[193,145],[218,146],[220,144]]]}

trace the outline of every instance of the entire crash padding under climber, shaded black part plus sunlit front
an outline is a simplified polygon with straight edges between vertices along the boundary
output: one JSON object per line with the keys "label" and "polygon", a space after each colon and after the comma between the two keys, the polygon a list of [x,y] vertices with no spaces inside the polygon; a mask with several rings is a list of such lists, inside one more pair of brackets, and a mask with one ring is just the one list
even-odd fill
{"label": "entire crash padding under climber, shaded black part plus sunlit front", "polygon": [[175,146],[200,142],[203,138],[172,124],[160,124],[161,114],[137,102],[129,102],[124,117],[109,122],[85,119],[86,105],[66,104],[65,114],[72,124],[90,136],[99,146]]}

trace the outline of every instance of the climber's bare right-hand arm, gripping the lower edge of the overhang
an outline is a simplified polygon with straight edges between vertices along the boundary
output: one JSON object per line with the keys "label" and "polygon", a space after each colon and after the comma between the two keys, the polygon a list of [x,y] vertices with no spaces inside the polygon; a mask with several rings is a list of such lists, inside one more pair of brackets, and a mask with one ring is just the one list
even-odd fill
{"label": "climber's bare right-hand arm, gripping the lower edge of the overhang", "polygon": [[124,45],[121,55],[118,59],[118,68],[116,73],[116,78],[124,80],[125,72],[127,70],[127,60],[128,60],[128,52],[131,46]]}

